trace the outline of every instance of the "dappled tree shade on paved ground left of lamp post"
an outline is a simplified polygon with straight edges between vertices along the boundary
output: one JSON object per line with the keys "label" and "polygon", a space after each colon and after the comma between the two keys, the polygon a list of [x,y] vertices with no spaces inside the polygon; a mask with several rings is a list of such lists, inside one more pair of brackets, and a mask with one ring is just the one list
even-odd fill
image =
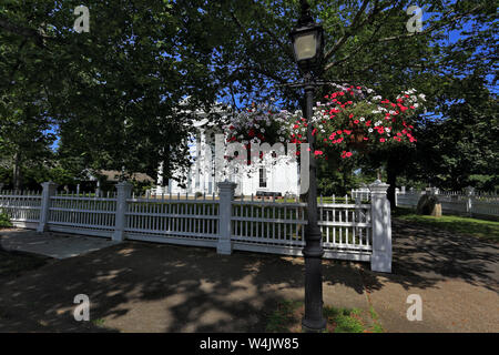
{"label": "dappled tree shade on paved ground left of lamp post", "polygon": [[[303,297],[303,274],[297,257],[125,242],[4,284],[0,331],[265,332],[283,298]],[[364,297],[348,263],[325,262],[324,276]],[[74,321],[78,294],[93,322]]]}

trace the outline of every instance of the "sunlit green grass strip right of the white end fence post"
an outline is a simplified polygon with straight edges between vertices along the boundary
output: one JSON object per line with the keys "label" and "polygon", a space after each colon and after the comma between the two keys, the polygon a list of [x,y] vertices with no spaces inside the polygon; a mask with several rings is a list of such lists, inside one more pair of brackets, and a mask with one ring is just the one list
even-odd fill
{"label": "sunlit green grass strip right of the white end fence post", "polygon": [[415,210],[397,207],[393,216],[404,222],[421,224],[437,227],[458,234],[471,235],[490,242],[499,242],[499,222],[461,217],[457,215],[442,215],[435,217],[431,215],[416,214]]}

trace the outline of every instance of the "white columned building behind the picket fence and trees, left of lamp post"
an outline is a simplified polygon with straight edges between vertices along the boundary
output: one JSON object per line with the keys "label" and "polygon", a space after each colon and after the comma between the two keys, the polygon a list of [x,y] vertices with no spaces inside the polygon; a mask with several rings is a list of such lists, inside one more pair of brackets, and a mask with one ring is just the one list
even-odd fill
{"label": "white columned building behind the picket fence and trees, left of lamp post", "polygon": [[[228,180],[237,183],[236,195],[277,193],[282,196],[299,194],[299,170],[296,159],[267,159],[265,163],[253,166],[228,165],[215,169],[215,142],[213,135],[221,133],[203,114],[195,122],[197,135],[189,143],[192,165],[187,173],[186,187],[170,179],[163,186],[161,172],[153,194],[211,195],[216,193],[216,183]],[[218,165],[217,165],[218,166]],[[160,166],[161,171],[161,166]]]}

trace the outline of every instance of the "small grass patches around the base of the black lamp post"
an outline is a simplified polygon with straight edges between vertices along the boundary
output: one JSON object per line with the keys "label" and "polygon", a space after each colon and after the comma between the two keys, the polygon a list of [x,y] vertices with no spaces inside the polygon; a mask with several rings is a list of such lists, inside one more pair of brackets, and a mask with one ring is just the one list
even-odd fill
{"label": "small grass patches around the base of the black lamp post", "polygon": [[[299,333],[302,332],[302,317],[305,307],[299,301],[283,301],[277,310],[267,318],[266,331],[271,333]],[[324,317],[327,320],[327,333],[383,333],[378,316],[370,310],[365,312],[358,308],[324,307]]]}

